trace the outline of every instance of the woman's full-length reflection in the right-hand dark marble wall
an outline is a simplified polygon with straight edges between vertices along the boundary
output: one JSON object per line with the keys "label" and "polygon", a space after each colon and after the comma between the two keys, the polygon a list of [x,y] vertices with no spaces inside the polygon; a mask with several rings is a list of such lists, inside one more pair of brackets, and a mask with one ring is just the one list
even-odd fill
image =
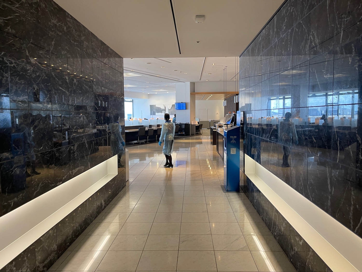
{"label": "woman's full-length reflection in the right-hand dark marble wall", "polygon": [[283,164],[282,167],[290,167],[288,158],[290,155],[290,146],[293,141],[294,144],[298,144],[298,137],[296,135],[295,124],[290,121],[292,114],[290,112],[285,113],[285,120],[279,124],[279,143],[283,145]]}

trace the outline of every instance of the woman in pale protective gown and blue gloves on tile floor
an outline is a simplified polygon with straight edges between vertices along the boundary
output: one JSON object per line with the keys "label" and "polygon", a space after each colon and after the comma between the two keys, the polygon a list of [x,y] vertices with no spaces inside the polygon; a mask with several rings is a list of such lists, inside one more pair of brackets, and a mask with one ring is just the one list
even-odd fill
{"label": "woman in pale protective gown and blue gloves on tile floor", "polygon": [[162,153],[164,153],[166,157],[165,168],[172,168],[172,149],[173,149],[173,136],[175,135],[175,124],[171,122],[170,115],[165,114],[165,123],[162,125],[161,136],[159,141],[159,146],[161,146],[162,141],[164,142]]}

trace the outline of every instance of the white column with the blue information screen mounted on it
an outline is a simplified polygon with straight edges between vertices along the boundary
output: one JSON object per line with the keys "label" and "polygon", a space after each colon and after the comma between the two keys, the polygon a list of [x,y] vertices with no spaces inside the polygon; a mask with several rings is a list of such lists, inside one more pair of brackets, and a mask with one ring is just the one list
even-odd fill
{"label": "white column with the blue information screen mounted on it", "polygon": [[186,110],[176,110],[177,122],[191,123],[195,120],[195,95],[191,92],[195,92],[195,82],[176,83],[176,102],[186,103]]}

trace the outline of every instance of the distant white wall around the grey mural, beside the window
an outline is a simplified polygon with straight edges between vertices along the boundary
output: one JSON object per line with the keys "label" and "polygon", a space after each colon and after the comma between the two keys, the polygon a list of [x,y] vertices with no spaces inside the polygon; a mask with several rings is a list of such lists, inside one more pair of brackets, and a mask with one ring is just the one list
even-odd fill
{"label": "distant white wall around the grey mural, beside the window", "polygon": [[[171,105],[176,101],[175,93],[165,94],[149,94],[148,99],[134,99],[133,100],[133,116],[134,118],[163,118],[163,115],[150,115],[150,105]],[[142,116],[141,116],[142,115]],[[171,116],[173,117],[173,116]]]}

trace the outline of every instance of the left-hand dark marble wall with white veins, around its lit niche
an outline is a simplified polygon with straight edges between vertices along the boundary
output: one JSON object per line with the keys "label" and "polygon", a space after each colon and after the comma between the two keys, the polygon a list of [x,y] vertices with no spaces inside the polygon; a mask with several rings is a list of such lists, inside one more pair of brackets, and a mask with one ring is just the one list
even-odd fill
{"label": "left-hand dark marble wall with white veins, around its lit niche", "polygon": [[[123,111],[121,56],[52,0],[0,1],[0,216],[110,158],[99,126]],[[46,271],[122,189],[123,172],[4,271]]]}

